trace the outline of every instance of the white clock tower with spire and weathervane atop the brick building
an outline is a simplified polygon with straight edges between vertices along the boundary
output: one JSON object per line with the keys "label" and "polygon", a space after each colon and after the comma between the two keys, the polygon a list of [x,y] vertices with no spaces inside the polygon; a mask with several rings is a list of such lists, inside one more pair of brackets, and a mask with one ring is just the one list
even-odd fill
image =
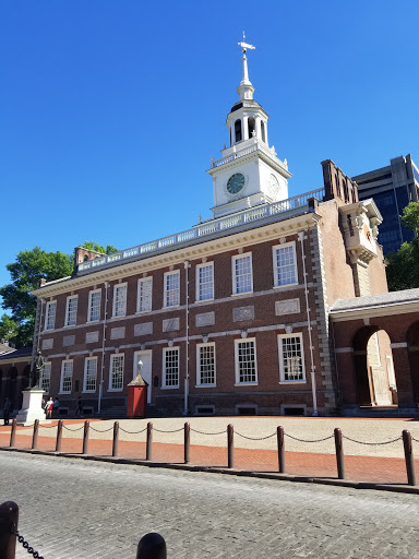
{"label": "white clock tower with spire and weathervane atop the brick building", "polygon": [[254,87],[249,80],[248,49],[252,45],[239,43],[242,48],[242,80],[237,102],[227,116],[229,147],[223,157],[211,162],[208,175],[213,178],[213,216],[222,217],[264,203],[288,198],[288,171],[286,159],[276,157],[275,147],[267,143],[268,116],[253,99]]}

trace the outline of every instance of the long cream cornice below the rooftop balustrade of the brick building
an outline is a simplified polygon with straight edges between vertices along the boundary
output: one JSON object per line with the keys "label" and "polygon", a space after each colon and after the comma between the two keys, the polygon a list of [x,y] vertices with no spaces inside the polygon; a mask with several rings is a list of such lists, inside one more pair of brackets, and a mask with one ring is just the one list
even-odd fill
{"label": "long cream cornice below the rooftop balustrade of the brick building", "polygon": [[282,222],[275,222],[262,227],[255,227],[254,229],[243,230],[235,235],[228,235],[206,242],[190,245],[178,250],[164,252],[163,254],[154,254],[149,258],[136,260],[127,264],[120,264],[69,280],[63,280],[60,283],[46,284],[44,287],[39,287],[32,293],[38,298],[47,298],[68,293],[69,290],[81,289],[95,284],[119,280],[121,277],[125,278],[139,273],[167,267],[171,264],[179,264],[185,260],[196,260],[202,257],[217,254],[222,251],[265,242],[284,235],[292,235],[299,230],[312,227],[319,222],[319,219],[320,216],[318,214],[309,212]]}

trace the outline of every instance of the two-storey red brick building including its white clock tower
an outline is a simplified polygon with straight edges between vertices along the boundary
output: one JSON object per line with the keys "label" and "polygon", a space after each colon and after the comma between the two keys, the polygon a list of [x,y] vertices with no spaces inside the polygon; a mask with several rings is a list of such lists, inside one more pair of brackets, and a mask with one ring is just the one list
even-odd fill
{"label": "two-storey red brick building including its white clock tower", "polygon": [[43,386],[62,412],[79,395],[122,412],[140,360],[166,415],[340,409],[330,308],[387,292],[381,215],[331,160],[324,188],[288,198],[241,46],[230,145],[207,170],[213,217],[116,254],[76,248],[72,276],[35,293]]}

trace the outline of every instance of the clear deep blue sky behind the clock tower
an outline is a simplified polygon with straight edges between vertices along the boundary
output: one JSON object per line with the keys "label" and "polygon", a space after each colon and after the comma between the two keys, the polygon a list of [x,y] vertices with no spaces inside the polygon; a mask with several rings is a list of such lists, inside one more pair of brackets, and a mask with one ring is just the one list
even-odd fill
{"label": "clear deep blue sky behind the clock tower", "polygon": [[289,194],[411,153],[419,2],[3,0],[0,285],[35,246],[119,249],[208,217],[246,29]]}

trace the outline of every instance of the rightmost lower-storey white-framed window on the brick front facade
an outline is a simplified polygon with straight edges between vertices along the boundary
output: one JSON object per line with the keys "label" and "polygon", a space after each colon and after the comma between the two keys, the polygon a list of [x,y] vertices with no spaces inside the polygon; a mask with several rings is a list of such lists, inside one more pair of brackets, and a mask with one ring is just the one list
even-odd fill
{"label": "rightmost lower-storey white-framed window on the brick front facade", "polygon": [[279,380],[280,382],[299,382],[306,380],[304,354],[301,334],[278,336]]}

